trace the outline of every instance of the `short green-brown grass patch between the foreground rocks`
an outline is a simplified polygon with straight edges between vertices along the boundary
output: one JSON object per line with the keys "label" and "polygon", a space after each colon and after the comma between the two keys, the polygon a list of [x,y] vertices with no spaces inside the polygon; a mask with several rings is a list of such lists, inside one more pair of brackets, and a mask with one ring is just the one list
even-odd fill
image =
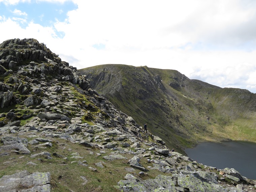
{"label": "short green-brown grass patch between the foreground rocks", "polygon": [[[24,155],[23,158],[19,158],[21,155],[11,153],[9,156],[1,157],[0,164],[0,178],[3,175],[13,174],[22,170],[28,170],[32,172],[50,172],[51,173],[51,185],[52,191],[104,191],[113,192],[118,191],[113,186],[117,185],[120,180],[124,179],[127,174],[125,170],[126,167],[130,167],[128,160],[133,157],[131,154],[122,154],[127,157],[127,160],[114,160],[107,161],[103,159],[103,156],[109,155],[110,151],[106,150],[105,154],[97,156],[96,153],[100,152],[100,149],[96,148],[85,148],[77,143],[71,143],[70,141],[64,139],[52,139],[53,147],[47,147],[47,149],[33,148],[33,146],[28,147],[32,154],[38,154],[42,151],[47,151],[50,153],[57,152],[59,155],[63,155],[68,158],[68,160],[63,160],[62,158],[57,158],[52,156],[53,159],[45,159],[43,157],[30,158],[30,155]],[[65,148],[64,148],[65,147]],[[68,149],[72,151],[68,151]],[[33,152],[34,150],[34,152]],[[72,159],[71,154],[77,152],[79,156],[84,157],[83,159]],[[91,155],[90,152],[94,152]],[[39,161],[41,158],[42,161]],[[87,162],[88,166],[78,165],[77,162],[71,163],[72,161],[84,161]],[[26,166],[28,162],[34,162],[37,166]],[[9,162],[9,163],[6,163]],[[95,163],[102,162],[104,168],[97,167]],[[141,158],[140,163],[147,167],[149,164],[146,158]],[[88,167],[94,167],[97,171],[92,171]],[[140,170],[135,170],[132,174],[138,177]],[[158,174],[158,170],[150,170],[147,172],[142,179],[153,179]],[[163,174],[163,173],[161,173]],[[86,177],[88,182],[86,185],[82,185],[84,181],[81,176]]]}

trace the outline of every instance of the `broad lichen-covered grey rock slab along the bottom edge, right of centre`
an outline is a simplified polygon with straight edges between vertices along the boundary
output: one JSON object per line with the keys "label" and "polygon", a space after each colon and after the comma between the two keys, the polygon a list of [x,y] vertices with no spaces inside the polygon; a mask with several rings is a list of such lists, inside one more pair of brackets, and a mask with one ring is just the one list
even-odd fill
{"label": "broad lichen-covered grey rock slab along the bottom edge, right of centre", "polygon": [[243,190],[227,187],[221,185],[203,182],[191,174],[173,174],[171,176],[158,175],[155,179],[148,179],[144,181],[138,180],[131,174],[125,176],[126,180],[118,182],[115,188],[120,191],[195,191],[195,192],[243,192]]}

